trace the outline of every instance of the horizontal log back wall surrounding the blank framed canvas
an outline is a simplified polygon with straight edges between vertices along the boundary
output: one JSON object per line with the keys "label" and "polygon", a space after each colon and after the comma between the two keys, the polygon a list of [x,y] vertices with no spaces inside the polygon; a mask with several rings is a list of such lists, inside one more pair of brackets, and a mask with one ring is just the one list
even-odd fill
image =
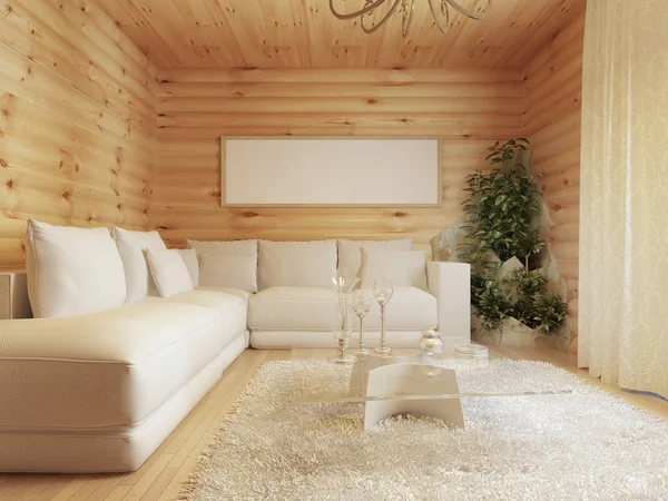
{"label": "horizontal log back wall surrounding the blank framed canvas", "polygon": [[[522,134],[514,70],[177,70],[160,72],[160,167],[151,225],[186,238],[429,240],[461,216],[464,177],[497,139]],[[219,136],[439,136],[439,208],[222,208]]]}

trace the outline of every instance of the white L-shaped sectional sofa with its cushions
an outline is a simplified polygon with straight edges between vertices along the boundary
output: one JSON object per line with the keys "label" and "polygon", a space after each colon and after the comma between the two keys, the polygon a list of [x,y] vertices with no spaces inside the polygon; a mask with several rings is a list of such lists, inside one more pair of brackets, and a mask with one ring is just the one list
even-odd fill
{"label": "white L-shaped sectional sofa with its cushions", "polygon": [[[138,468],[249,344],[334,346],[336,301],[328,284],[337,265],[338,273],[360,273],[364,287],[362,247],[410,252],[406,240],[189,242],[196,252],[178,250],[180,275],[166,277],[171,269],[158,269],[158,256],[174,259],[177,250],[167,250],[155,232],[116,228],[115,242],[99,229],[33,222],[31,228],[28,289],[40,317],[0,321],[6,472]],[[387,255],[396,263],[409,256]],[[411,256],[420,268],[420,256]],[[387,269],[397,284],[407,276],[399,268]],[[468,265],[422,263],[420,273],[407,278],[420,287],[394,288],[390,345],[416,346],[421,332],[435,326],[448,345],[469,342]],[[366,327],[373,345],[377,305]]]}

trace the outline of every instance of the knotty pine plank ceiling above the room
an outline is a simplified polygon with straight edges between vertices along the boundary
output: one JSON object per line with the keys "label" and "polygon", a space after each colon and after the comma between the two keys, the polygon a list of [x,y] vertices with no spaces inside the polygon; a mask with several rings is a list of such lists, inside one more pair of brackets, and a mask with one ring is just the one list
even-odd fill
{"label": "knotty pine plank ceiling above the room", "polygon": [[[343,1],[344,11],[364,4],[336,1]],[[459,1],[468,8],[485,4]],[[455,12],[448,35],[434,26],[429,0],[415,0],[406,39],[400,14],[365,35],[356,20],[334,18],[328,0],[99,3],[161,68],[522,68],[584,9],[586,0],[493,0],[482,21]]]}

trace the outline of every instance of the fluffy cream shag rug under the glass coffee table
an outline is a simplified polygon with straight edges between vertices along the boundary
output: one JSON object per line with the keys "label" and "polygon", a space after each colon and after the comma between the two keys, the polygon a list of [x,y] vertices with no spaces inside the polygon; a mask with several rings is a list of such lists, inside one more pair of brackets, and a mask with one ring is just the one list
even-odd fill
{"label": "fluffy cream shag rug under the glass coffee table", "polygon": [[345,385],[350,369],[265,364],[185,499],[668,499],[668,423],[550,364],[493,361],[458,380],[464,392],[572,394],[464,399],[465,429],[402,415],[369,432],[362,404],[292,404],[298,371]]}

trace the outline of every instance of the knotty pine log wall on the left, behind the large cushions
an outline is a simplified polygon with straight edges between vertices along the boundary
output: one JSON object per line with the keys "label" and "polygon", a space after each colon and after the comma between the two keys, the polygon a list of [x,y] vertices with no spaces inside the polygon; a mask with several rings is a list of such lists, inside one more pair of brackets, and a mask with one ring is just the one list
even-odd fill
{"label": "knotty pine log wall on the left, behind the large cushions", "polygon": [[157,70],[88,0],[0,0],[0,268],[26,220],[148,228]]}

